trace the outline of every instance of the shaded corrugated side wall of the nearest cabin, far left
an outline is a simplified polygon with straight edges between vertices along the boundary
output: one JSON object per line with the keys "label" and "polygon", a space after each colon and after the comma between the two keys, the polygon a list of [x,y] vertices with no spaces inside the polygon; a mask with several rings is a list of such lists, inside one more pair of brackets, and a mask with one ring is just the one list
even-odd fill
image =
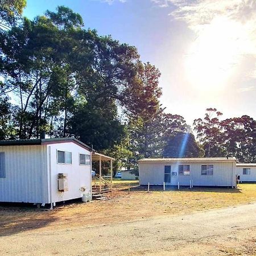
{"label": "shaded corrugated side wall of the nearest cabin, far left", "polygon": [[0,178],[0,201],[46,203],[46,146],[0,146],[5,153],[5,178]]}

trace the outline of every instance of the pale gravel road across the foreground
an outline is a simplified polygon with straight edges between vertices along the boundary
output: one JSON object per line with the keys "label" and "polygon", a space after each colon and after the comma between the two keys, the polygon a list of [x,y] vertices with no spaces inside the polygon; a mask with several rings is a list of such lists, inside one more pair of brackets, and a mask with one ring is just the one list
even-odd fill
{"label": "pale gravel road across the foreground", "polygon": [[256,203],[0,237],[1,255],[256,255]]}

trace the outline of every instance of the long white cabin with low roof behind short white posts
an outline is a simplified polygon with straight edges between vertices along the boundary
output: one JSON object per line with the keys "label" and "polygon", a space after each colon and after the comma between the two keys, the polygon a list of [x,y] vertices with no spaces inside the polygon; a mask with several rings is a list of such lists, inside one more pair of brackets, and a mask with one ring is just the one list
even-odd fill
{"label": "long white cabin with low roof behind short white posts", "polygon": [[236,158],[144,158],[139,183],[236,187]]}

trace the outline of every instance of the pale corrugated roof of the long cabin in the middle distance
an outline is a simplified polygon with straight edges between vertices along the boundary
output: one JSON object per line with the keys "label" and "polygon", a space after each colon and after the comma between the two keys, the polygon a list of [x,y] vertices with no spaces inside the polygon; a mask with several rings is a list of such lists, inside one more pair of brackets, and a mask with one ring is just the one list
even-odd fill
{"label": "pale corrugated roof of the long cabin in the middle distance", "polygon": [[236,158],[143,158],[139,162],[232,162]]}

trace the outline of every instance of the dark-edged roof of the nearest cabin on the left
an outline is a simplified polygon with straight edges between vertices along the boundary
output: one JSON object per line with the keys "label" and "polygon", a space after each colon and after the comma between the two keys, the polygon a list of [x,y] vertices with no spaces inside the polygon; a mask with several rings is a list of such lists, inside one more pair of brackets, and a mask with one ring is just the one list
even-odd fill
{"label": "dark-edged roof of the nearest cabin on the left", "polygon": [[79,144],[82,147],[86,147],[90,151],[94,151],[90,146],[79,141],[76,138],[48,138],[48,139],[10,139],[5,141],[0,141],[0,146],[19,146],[19,145],[42,145],[42,144],[51,144],[51,143],[65,143],[65,142],[74,142]]}

